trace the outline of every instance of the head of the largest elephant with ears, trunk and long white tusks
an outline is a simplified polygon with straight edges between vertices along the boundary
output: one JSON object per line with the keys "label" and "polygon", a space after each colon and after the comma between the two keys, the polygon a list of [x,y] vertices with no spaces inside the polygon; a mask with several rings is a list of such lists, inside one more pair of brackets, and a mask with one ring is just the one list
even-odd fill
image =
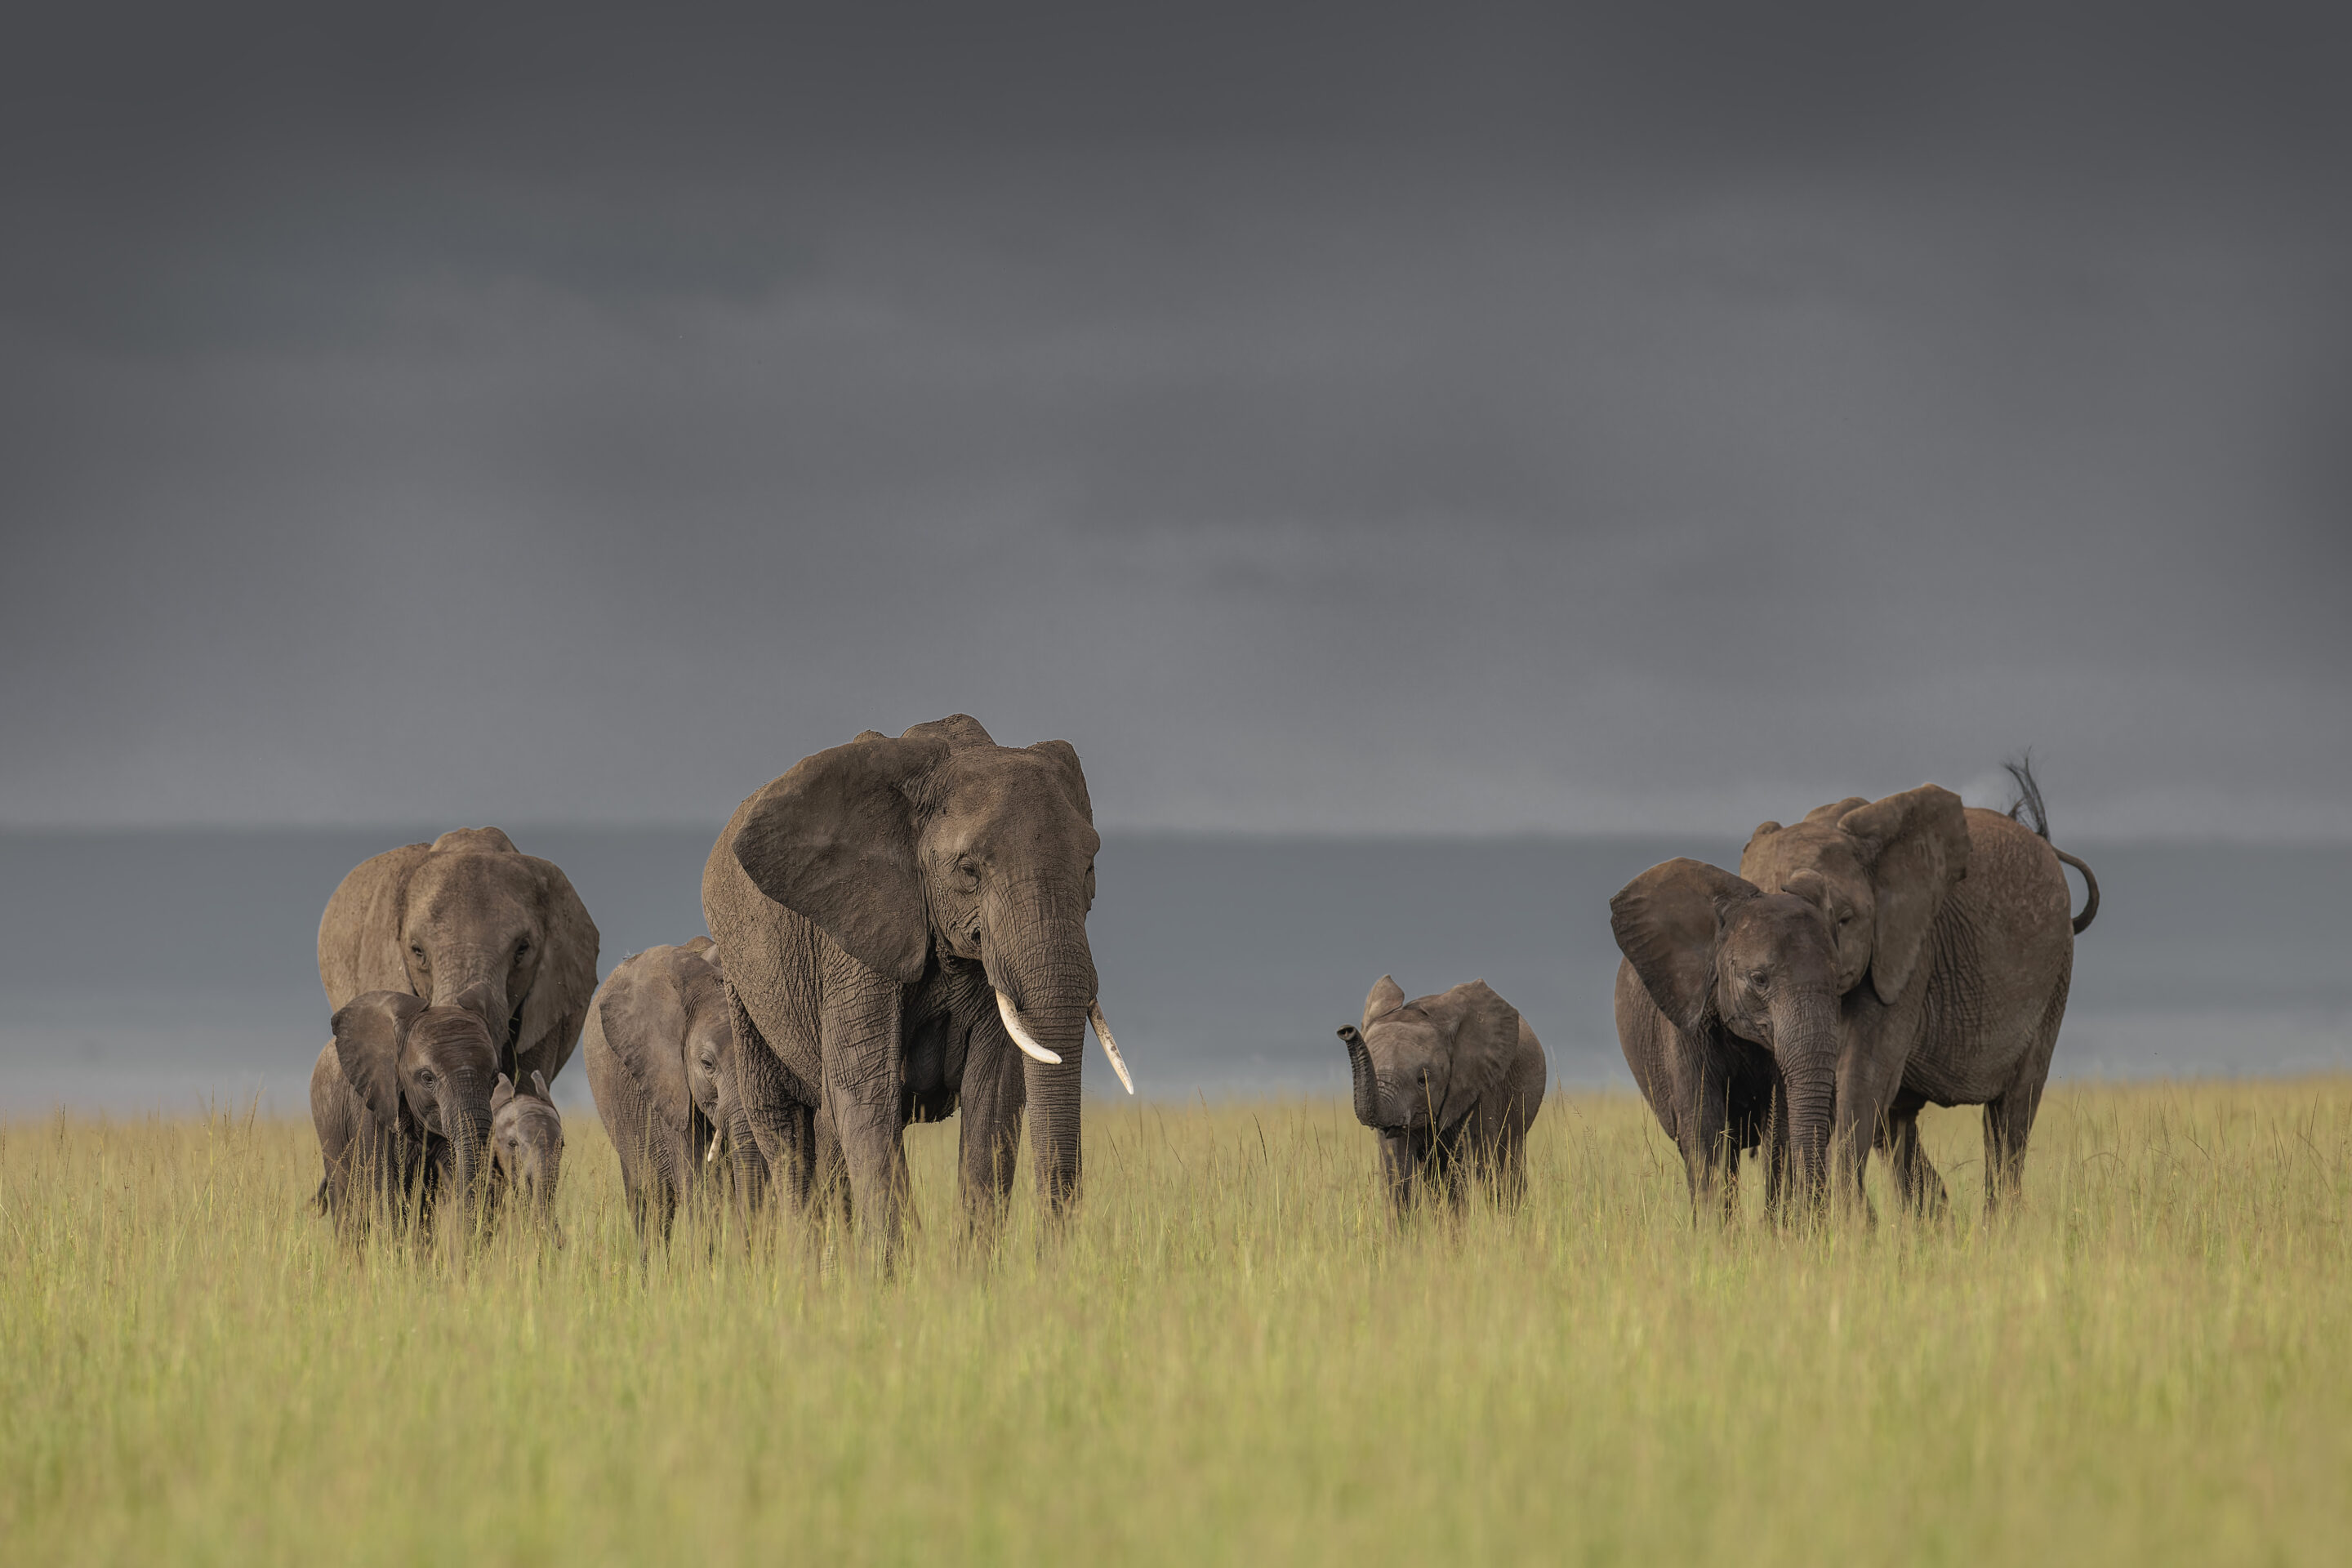
{"label": "head of the largest elephant with ears, trunk and long white tusks", "polygon": [[866,969],[913,985],[978,964],[1025,1053],[1030,1138],[1058,1204],[1080,1178],[1080,1046],[1096,999],[1094,804],[1068,741],[997,745],[967,715],[896,741],[866,731],[797,762],[746,804],[734,856],[767,898]]}

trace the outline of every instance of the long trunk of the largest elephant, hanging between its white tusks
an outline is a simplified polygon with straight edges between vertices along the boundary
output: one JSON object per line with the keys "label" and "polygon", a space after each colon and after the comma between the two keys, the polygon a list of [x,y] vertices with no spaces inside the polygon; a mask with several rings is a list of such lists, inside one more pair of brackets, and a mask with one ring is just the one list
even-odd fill
{"label": "long trunk of the largest elephant, hanging between its white tusks", "polygon": [[[1077,1201],[1080,1190],[1080,1063],[1087,1023],[1096,1011],[1094,954],[1087,947],[1087,900],[1080,889],[1042,882],[1004,891],[983,922],[981,959],[1007,1034],[1023,1048],[1030,1154],[1037,1194],[1051,1213]],[[1004,933],[1004,940],[993,940]],[[1042,1060],[1058,1056],[1061,1060]]]}

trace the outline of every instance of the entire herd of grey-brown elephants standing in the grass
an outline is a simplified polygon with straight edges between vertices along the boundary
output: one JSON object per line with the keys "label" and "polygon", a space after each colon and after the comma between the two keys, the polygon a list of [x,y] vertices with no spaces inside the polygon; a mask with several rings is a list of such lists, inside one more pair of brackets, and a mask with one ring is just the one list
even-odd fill
{"label": "entire herd of grey-brown elephants standing in the grass", "polygon": [[[1773,1213],[1867,1204],[1877,1147],[1936,1213],[1924,1105],[1983,1105],[1987,1206],[2016,1190],[2098,884],[2013,771],[2006,816],[1936,785],[1842,799],[1757,827],[1738,875],[1665,860],[1611,898],[1618,1041],[1698,1211],[1729,1211],[1745,1152]],[[572,882],[496,827],[374,856],[318,933],[320,1206],[428,1220],[466,1194],[553,1232],[548,1084],[579,1044],[640,1246],[724,1175],[746,1218],[781,1185],[889,1255],[906,1126],[950,1114],[969,1222],[1011,1197],[1023,1121],[1040,1201],[1065,1213],[1089,1025],[1134,1093],[1087,945],[1098,849],[1065,741],[1007,748],[955,715],[866,731],[746,799],[703,865],[710,936],[602,985]],[[1399,1208],[1423,1185],[1519,1201],[1545,1060],[1517,1009],[1484,980],[1406,1001],[1381,976],[1338,1034]]]}

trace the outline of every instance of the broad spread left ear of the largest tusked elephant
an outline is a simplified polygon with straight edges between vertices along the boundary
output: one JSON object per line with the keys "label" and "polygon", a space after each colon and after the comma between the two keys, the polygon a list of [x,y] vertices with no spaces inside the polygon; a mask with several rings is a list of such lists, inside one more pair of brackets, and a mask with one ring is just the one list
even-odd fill
{"label": "broad spread left ear of the largest tusked elephant", "polygon": [[950,724],[802,757],[750,799],[734,839],[755,889],[901,985],[931,957],[910,792],[948,757]]}

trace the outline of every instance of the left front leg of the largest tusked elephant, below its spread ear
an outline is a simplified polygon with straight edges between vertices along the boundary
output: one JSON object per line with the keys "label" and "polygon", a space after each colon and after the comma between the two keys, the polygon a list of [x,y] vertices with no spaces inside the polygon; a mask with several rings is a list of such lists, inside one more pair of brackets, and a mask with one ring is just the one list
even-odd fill
{"label": "left front leg of the largest tusked elephant, below its spread ear", "polygon": [[842,1145],[849,1199],[884,1269],[898,1255],[906,1206],[906,1124],[898,1114],[896,980],[833,952],[826,964],[823,1110]]}

